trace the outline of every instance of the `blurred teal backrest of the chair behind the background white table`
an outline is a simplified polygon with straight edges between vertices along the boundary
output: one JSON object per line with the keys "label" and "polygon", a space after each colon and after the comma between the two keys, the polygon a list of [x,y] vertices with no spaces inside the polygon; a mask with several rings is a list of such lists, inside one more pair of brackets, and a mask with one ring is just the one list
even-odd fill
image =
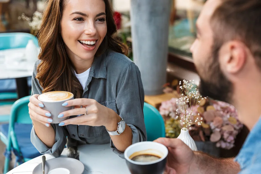
{"label": "blurred teal backrest of the chair behind the background white table", "polygon": [[0,33],[0,50],[25,48],[30,39],[34,41],[35,45],[39,46],[37,38],[29,33]]}

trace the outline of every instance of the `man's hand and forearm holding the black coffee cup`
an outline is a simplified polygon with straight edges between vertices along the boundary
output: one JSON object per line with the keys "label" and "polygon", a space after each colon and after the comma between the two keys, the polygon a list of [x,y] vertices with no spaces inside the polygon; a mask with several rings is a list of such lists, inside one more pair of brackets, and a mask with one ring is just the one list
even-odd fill
{"label": "man's hand and forearm holding the black coffee cup", "polygon": [[233,158],[218,159],[192,151],[180,139],[159,138],[155,142],[168,148],[166,174],[236,174],[240,171],[239,164]]}

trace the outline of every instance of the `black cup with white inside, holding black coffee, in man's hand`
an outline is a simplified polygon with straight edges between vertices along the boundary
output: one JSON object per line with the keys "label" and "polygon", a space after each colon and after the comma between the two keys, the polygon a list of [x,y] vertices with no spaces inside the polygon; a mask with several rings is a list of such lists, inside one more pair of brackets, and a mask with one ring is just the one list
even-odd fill
{"label": "black cup with white inside, holding black coffee, in man's hand", "polygon": [[[150,162],[133,161],[139,155],[153,155],[159,159]],[[138,142],[129,146],[124,157],[132,174],[162,174],[167,162],[168,149],[157,142]]]}

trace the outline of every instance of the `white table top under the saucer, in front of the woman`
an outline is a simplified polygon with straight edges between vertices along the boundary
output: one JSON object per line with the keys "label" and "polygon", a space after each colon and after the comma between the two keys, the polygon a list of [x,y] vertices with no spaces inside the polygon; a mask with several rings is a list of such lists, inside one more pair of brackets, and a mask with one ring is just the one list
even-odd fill
{"label": "white table top under the saucer, in front of the woman", "polygon": [[[84,164],[83,174],[130,174],[126,161],[112,152],[110,144],[87,144],[78,147],[80,161]],[[45,155],[46,160],[54,158]],[[65,148],[61,157],[67,156]],[[25,162],[9,171],[7,174],[32,174],[33,169],[41,163],[41,156]],[[20,173],[24,172],[24,173]]]}

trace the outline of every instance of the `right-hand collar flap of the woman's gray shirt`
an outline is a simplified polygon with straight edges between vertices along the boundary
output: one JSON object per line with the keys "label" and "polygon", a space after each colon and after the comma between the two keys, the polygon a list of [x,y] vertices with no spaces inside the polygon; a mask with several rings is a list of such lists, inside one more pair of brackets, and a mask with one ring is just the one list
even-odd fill
{"label": "right-hand collar flap of the woman's gray shirt", "polygon": [[90,75],[96,79],[104,78],[107,79],[107,68],[105,65],[105,59],[108,52],[104,52],[102,55],[95,57],[93,65],[90,68]]}

